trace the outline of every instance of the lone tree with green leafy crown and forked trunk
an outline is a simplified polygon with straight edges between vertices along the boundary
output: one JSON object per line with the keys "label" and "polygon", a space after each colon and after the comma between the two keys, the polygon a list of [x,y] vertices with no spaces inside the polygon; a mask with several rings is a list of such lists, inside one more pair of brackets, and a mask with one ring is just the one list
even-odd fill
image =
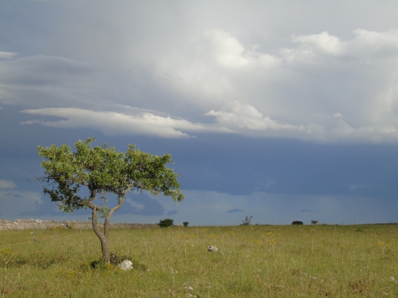
{"label": "lone tree with green leafy crown and forked trunk", "polygon": [[[113,147],[92,147],[95,138],[75,143],[74,152],[69,146],[38,147],[44,175],[37,178],[43,184],[43,192],[52,202],[58,202],[59,209],[73,213],[78,209],[92,210],[94,232],[100,239],[102,258],[109,263],[109,220],[113,213],[124,203],[129,191],[150,191],[155,196],[163,193],[172,197],[174,202],[184,200],[177,181],[178,174],[166,167],[173,162],[171,155],[151,155],[128,145],[126,152],[116,151]],[[87,194],[83,196],[83,189]],[[117,205],[108,208],[107,195],[117,198]],[[99,200],[102,204],[95,204]],[[98,218],[104,218],[103,232],[98,227]]]}

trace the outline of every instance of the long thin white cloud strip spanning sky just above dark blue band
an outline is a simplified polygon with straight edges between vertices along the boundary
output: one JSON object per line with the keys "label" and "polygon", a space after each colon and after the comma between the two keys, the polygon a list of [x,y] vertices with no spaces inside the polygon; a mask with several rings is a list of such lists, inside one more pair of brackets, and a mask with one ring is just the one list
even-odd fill
{"label": "long thin white cloud strip spanning sky just above dark blue band", "polygon": [[[120,106],[116,106],[120,109]],[[116,109],[113,107],[113,109]],[[154,111],[125,107],[124,112],[93,111],[79,108],[26,109],[35,117],[60,117],[61,120],[35,119],[22,122],[55,128],[99,129],[106,135],[148,135],[161,138],[189,138],[190,133],[236,133],[256,137],[285,137],[315,142],[396,143],[398,129],[393,125],[354,127],[341,113],[323,118],[322,124],[293,125],[264,116],[248,103],[233,101],[218,111],[210,110],[213,124],[158,115]]]}

